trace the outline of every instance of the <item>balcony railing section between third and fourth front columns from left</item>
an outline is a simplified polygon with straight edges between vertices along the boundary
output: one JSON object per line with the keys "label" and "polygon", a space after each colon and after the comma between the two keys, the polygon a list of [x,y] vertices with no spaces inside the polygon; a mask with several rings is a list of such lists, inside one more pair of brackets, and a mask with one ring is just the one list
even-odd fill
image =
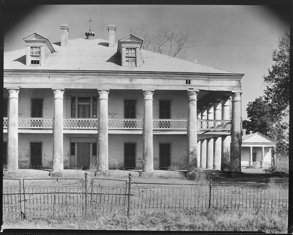
{"label": "balcony railing section between third and fourth front columns from left", "polygon": [[143,119],[110,119],[108,120],[109,129],[143,129]]}

